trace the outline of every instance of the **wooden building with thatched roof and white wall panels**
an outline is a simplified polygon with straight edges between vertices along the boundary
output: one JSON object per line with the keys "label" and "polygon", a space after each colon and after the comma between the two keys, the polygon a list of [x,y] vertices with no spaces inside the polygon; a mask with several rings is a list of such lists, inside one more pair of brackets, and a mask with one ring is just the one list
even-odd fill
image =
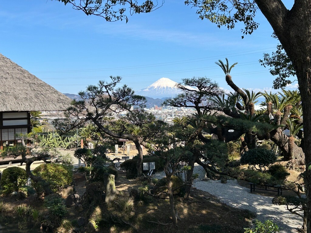
{"label": "wooden building with thatched roof and white wall panels", "polygon": [[30,132],[30,111],[63,111],[71,99],[0,53],[0,149]]}

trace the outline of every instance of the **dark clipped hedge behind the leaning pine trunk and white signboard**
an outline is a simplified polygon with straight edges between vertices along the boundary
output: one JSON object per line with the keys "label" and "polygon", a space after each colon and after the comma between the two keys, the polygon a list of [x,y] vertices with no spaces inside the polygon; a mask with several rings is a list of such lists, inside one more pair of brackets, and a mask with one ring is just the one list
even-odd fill
{"label": "dark clipped hedge behind the leaning pine trunk and white signboard", "polygon": [[[121,167],[126,170],[126,178],[132,179],[137,176],[137,159],[138,157],[135,156],[134,158],[128,159],[121,164]],[[164,159],[148,155],[143,156],[142,162],[156,162],[156,172],[163,171],[165,164]]]}

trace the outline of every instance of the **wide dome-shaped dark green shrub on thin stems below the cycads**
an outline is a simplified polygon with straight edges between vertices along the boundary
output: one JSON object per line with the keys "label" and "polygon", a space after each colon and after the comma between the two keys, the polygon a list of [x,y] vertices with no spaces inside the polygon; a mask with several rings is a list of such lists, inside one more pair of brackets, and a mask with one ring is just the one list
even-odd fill
{"label": "wide dome-shaped dark green shrub on thin stems below the cycads", "polygon": [[263,148],[254,148],[241,155],[241,163],[250,165],[259,165],[259,167],[268,166],[276,161],[276,154],[272,150]]}

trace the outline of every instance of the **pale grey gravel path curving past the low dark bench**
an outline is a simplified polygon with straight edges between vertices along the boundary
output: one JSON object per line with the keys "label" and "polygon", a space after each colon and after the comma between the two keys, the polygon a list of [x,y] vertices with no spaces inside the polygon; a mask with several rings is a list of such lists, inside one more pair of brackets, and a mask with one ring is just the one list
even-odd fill
{"label": "pale grey gravel path curving past the low dark bench", "polygon": [[[220,180],[201,181],[205,174],[201,166],[195,166],[193,173],[199,174],[193,187],[216,196],[222,203],[255,212],[256,219],[261,222],[268,219],[276,222],[281,232],[294,233],[302,226],[301,217],[291,214],[285,206],[273,205],[272,197],[251,194],[249,188],[240,186],[236,180],[228,180],[227,184],[222,184]],[[155,176],[162,178],[165,174],[160,172]]]}

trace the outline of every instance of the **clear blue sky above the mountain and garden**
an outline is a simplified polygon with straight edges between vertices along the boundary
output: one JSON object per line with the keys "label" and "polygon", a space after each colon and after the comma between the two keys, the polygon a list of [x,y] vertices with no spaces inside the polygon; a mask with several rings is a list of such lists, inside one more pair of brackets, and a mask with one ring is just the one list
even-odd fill
{"label": "clear blue sky above the mountain and garden", "polygon": [[0,53],[62,93],[76,94],[110,75],[122,76],[122,84],[134,90],[162,77],[180,82],[193,76],[230,89],[215,64],[225,57],[239,63],[231,71],[239,87],[272,87],[274,77],[258,60],[275,49],[277,40],[260,11],[258,30],[241,39],[243,25],[219,29],[199,20],[181,0],[128,16],[127,24],[86,16],[55,0],[0,2]]}

